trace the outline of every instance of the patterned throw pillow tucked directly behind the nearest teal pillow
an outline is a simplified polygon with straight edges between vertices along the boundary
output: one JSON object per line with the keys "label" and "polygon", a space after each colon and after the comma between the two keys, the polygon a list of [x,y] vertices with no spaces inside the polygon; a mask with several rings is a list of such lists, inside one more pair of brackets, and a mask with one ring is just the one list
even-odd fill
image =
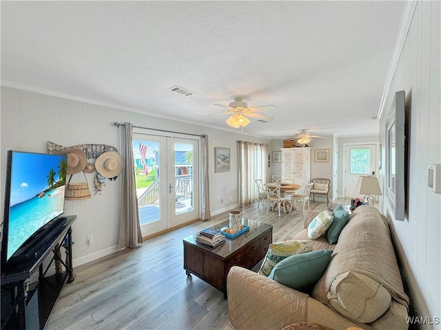
{"label": "patterned throw pillow tucked directly behind the nearest teal pillow", "polygon": [[291,240],[269,244],[267,255],[263,260],[258,274],[269,276],[271,270],[279,261],[294,254],[302,254],[312,251],[312,241]]}

